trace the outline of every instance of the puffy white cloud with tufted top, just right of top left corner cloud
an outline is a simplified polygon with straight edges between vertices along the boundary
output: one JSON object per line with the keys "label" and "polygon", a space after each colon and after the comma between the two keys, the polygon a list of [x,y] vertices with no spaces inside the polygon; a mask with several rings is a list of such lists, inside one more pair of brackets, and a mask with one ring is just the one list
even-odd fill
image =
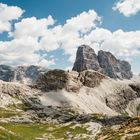
{"label": "puffy white cloud with tufted top, just right of top left corner cloud", "polygon": [[45,35],[48,26],[53,25],[54,22],[51,16],[43,19],[37,19],[36,17],[25,18],[15,24],[15,31],[11,32],[10,36],[14,38],[41,37]]}

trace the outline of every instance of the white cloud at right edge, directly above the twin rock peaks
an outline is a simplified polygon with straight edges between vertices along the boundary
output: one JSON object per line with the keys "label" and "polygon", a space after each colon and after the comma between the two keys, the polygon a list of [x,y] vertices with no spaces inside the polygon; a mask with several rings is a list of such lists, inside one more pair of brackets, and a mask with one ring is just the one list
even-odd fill
{"label": "white cloud at right edge, directly above the twin rock peaks", "polygon": [[87,35],[85,40],[97,50],[111,51],[118,57],[127,58],[140,55],[139,36],[140,31],[124,32],[123,30],[117,30],[111,32],[107,29],[97,28]]}

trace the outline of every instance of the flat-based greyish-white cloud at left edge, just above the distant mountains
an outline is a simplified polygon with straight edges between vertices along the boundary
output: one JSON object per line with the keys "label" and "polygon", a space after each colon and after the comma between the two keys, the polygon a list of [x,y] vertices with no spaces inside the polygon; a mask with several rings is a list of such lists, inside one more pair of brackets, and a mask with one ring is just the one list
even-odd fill
{"label": "flat-based greyish-white cloud at left edge, just above the distant mountains", "polygon": [[25,37],[12,41],[0,42],[1,64],[7,65],[46,65],[49,66],[52,60],[40,58],[35,53],[38,50],[38,42],[35,38]]}

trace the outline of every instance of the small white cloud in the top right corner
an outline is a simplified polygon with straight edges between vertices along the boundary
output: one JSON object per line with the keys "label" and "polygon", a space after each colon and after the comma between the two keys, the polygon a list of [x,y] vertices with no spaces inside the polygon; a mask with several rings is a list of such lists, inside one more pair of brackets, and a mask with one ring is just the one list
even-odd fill
{"label": "small white cloud in the top right corner", "polygon": [[129,17],[140,11],[140,0],[119,0],[113,10],[118,10],[124,16]]}

